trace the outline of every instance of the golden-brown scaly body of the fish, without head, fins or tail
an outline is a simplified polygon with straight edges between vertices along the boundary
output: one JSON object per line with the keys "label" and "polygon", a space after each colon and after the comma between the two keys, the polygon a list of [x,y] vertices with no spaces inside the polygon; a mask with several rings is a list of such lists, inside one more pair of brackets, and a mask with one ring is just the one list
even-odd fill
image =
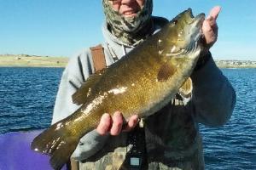
{"label": "golden-brown scaly body of the fish, without head, fins or tail", "polygon": [[[125,62],[116,63],[116,68],[107,70],[96,86],[90,89],[91,94],[95,95],[90,95],[77,113],[67,118],[67,122],[78,120],[81,123],[78,126],[78,122],[74,122],[79,128],[75,131],[81,136],[84,136],[81,132],[96,127],[103,113],[113,114],[114,111],[121,111],[125,118],[128,118],[135,113],[143,117],[160,110],[177,94],[177,90],[189,77],[190,71],[179,71],[184,70],[182,67],[193,64],[189,63],[190,59],[181,59],[181,70],[172,68],[172,78],[161,81],[158,74],[162,65],[167,65],[167,59],[158,54],[156,46],[138,51],[136,57],[134,56],[133,53],[128,54],[125,56]],[[173,65],[172,60],[168,62]],[[73,131],[74,128],[70,130]]]}

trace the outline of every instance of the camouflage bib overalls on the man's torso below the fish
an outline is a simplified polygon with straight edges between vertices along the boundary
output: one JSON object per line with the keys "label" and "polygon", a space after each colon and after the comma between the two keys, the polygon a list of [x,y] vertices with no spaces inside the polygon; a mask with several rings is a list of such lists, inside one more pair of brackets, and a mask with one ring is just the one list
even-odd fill
{"label": "camouflage bib overalls on the man's torso below the fish", "polygon": [[[144,120],[146,163],[142,169],[150,170],[203,170],[201,136],[193,118],[194,109],[177,95],[170,105]],[[131,169],[127,146],[128,133],[111,137],[95,156],[80,162],[81,170]]]}

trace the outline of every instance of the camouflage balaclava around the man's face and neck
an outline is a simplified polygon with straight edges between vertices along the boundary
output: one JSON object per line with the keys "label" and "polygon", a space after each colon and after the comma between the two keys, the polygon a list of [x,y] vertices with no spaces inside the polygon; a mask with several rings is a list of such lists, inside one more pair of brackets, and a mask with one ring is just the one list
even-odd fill
{"label": "camouflage balaclava around the man's face and neck", "polygon": [[153,0],[145,0],[143,8],[135,17],[125,18],[112,8],[108,0],[102,0],[104,14],[111,33],[118,37],[121,42],[128,45],[136,45],[148,37],[152,32],[151,14]]}

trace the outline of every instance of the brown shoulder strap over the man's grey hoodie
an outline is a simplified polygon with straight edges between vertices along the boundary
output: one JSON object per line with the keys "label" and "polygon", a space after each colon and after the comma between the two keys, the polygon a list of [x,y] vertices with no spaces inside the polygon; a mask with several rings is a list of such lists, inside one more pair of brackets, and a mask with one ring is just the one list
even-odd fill
{"label": "brown shoulder strap over the man's grey hoodie", "polygon": [[104,48],[102,47],[102,44],[90,48],[94,69],[96,72],[101,71],[102,69],[107,67],[103,49]]}

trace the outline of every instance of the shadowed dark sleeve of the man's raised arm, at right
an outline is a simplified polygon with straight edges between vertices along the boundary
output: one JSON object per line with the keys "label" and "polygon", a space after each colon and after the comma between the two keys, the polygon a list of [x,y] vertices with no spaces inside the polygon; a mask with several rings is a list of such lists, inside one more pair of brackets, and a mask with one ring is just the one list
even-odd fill
{"label": "shadowed dark sleeve of the man's raised arm, at right", "polygon": [[[210,54],[211,55],[211,54]],[[196,122],[208,126],[224,125],[236,104],[236,93],[230,82],[210,59],[191,75],[194,89],[192,103]]]}

